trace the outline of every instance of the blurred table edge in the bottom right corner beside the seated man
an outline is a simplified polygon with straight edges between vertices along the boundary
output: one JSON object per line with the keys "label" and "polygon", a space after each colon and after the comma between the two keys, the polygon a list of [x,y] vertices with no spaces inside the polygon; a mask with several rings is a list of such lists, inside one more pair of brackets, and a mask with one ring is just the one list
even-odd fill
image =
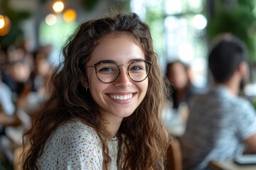
{"label": "blurred table edge in the bottom right corner beside the seated man", "polygon": [[215,170],[255,170],[255,165],[239,165],[233,162],[233,160],[225,160],[218,162],[210,162],[209,166]]}

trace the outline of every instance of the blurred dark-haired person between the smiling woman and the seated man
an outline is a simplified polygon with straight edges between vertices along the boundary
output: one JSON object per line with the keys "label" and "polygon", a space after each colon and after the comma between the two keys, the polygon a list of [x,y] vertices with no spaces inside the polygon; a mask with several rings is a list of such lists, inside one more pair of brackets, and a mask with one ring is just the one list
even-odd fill
{"label": "blurred dark-haired person between the smiling woman and the seated man", "polygon": [[183,124],[186,124],[188,118],[191,98],[203,93],[203,89],[192,84],[191,74],[191,68],[181,60],[174,60],[166,65],[166,77],[172,92],[167,104],[171,104],[171,116],[178,117],[178,121]]}

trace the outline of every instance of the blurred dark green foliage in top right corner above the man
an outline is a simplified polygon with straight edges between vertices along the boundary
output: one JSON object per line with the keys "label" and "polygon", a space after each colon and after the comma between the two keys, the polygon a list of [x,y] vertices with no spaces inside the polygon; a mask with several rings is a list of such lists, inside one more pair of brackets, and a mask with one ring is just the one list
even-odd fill
{"label": "blurred dark green foliage in top right corner above the man", "polygon": [[208,17],[207,33],[213,40],[220,33],[233,33],[243,40],[249,50],[249,59],[256,62],[255,35],[256,17],[253,14],[255,0],[215,1],[213,17]]}

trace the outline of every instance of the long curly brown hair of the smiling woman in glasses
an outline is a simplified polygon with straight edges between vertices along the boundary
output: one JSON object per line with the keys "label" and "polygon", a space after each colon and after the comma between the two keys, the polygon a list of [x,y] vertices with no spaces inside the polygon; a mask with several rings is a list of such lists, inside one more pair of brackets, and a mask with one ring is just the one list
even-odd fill
{"label": "long curly brown hair of the smiling woman in glasses", "polygon": [[[23,169],[38,169],[36,161],[43,153],[46,141],[56,128],[66,121],[79,118],[94,128],[102,142],[103,169],[111,158],[107,147],[110,137],[97,103],[81,84],[86,74],[85,64],[90,60],[97,43],[105,35],[129,33],[142,46],[146,60],[152,62],[146,96],[138,108],[124,118],[117,132],[119,139],[118,169],[164,169],[170,137],[161,120],[167,96],[164,74],[154,52],[151,33],[136,13],[119,13],[82,23],[63,47],[64,60],[54,70],[49,96],[41,111],[33,117],[31,129],[24,135],[24,144],[30,146],[23,154]],[[26,140],[27,139],[27,140]],[[120,157],[124,159],[120,159]]]}

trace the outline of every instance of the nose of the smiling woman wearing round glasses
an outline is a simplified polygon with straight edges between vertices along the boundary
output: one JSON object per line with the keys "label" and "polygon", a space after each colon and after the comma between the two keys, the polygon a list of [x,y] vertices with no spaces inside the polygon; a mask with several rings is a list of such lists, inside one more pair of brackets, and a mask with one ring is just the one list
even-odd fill
{"label": "nose of the smiling woman wearing round glasses", "polygon": [[127,88],[132,85],[132,80],[129,78],[126,67],[120,67],[119,76],[114,81],[115,86],[122,86]]}

